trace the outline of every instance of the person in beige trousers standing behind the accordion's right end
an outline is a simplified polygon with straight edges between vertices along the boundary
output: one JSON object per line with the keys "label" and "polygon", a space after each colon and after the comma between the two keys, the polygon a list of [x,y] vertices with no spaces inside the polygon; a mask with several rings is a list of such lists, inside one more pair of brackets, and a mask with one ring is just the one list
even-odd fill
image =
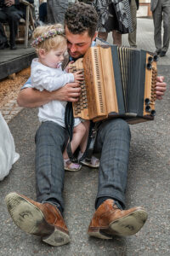
{"label": "person in beige trousers standing behind the accordion's right end", "polygon": [[130,0],[130,11],[132,16],[132,22],[133,22],[133,32],[128,33],[128,43],[131,47],[137,48],[136,44],[136,29],[137,29],[137,18],[136,13],[139,9],[139,0]]}

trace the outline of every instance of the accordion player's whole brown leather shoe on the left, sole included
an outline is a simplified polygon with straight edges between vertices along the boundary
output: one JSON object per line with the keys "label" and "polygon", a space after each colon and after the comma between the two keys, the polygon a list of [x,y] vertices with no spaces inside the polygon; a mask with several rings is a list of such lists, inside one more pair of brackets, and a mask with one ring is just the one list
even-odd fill
{"label": "accordion player's whole brown leather shoe on the left, sole included", "polygon": [[14,223],[25,232],[42,237],[42,241],[61,246],[70,241],[69,231],[61,213],[49,203],[38,203],[18,193],[5,197],[8,212]]}

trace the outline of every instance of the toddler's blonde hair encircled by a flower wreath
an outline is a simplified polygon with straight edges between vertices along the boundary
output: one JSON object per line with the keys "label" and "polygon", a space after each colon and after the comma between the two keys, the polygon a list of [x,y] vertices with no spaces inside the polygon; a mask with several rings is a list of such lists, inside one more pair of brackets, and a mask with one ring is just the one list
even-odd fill
{"label": "toddler's blonde hair encircled by a flower wreath", "polygon": [[32,46],[36,49],[45,49],[47,52],[50,49],[57,49],[66,44],[65,31],[61,24],[48,26],[37,26],[33,32]]}

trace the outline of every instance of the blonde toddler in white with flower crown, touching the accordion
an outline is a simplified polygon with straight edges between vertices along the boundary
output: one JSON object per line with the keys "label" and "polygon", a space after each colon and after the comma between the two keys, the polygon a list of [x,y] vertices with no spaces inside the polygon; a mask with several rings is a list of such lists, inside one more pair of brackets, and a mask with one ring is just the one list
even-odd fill
{"label": "blonde toddler in white with flower crown, touching the accordion", "polygon": [[[33,33],[34,41],[32,46],[36,49],[38,58],[31,63],[31,84],[37,90],[58,90],[67,83],[83,80],[80,71],[67,73],[67,66],[63,71],[62,61],[67,49],[65,31],[62,25],[38,26]],[[67,71],[67,72],[66,72]],[[53,121],[65,127],[65,106],[66,102],[52,101],[39,108],[38,117],[41,122]],[[74,153],[78,146],[81,152],[79,158],[86,149],[88,142],[89,122],[75,119],[71,150]],[[63,153],[64,166],[67,171],[79,171],[81,165],[72,163],[68,154]],[[84,163],[84,162],[83,162]],[[86,164],[86,162],[84,163]],[[99,167],[99,160],[93,157],[92,167]]]}

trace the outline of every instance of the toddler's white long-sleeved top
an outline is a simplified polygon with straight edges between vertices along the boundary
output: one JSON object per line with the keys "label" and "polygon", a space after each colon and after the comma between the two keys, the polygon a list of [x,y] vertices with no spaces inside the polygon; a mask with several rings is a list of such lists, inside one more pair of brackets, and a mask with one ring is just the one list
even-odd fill
{"label": "toddler's white long-sleeved top", "polygon": [[[74,75],[59,68],[47,67],[34,59],[31,63],[31,85],[37,90],[58,90],[67,83],[74,82]],[[65,106],[67,102],[51,101],[39,108],[40,122],[53,121],[65,127]],[[75,126],[81,122],[75,119]]]}

